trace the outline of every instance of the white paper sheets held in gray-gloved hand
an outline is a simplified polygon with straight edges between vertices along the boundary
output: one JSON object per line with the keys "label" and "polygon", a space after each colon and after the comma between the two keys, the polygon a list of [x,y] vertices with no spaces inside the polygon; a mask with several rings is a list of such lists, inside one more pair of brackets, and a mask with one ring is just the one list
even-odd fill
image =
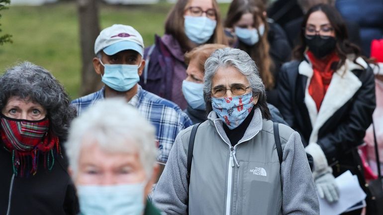
{"label": "white paper sheets held in gray-gloved hand", "polygon": [[336,203],[329,204],[325,199],[318,196],[320,215],[342,214],[366,198],[366,194],[359,186],[358,178],[353,176],[350,171],[338,176],[335,182],[339,188],[339,200]]}

